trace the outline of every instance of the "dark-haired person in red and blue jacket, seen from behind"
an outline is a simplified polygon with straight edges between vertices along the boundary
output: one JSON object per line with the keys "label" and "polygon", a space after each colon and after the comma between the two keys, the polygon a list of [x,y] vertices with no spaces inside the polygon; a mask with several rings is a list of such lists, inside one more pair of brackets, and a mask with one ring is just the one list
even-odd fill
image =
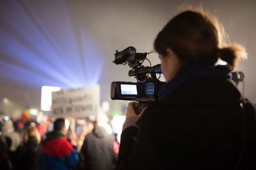
{"label": "dark-haired person in red and blue jacket, seen from behind", "polygon": [[77,165],[79,156],[66,134],[65,119],[58,118],[54,122],[54,131],[47,133],[42,143],[42,170],[67,170]]}

